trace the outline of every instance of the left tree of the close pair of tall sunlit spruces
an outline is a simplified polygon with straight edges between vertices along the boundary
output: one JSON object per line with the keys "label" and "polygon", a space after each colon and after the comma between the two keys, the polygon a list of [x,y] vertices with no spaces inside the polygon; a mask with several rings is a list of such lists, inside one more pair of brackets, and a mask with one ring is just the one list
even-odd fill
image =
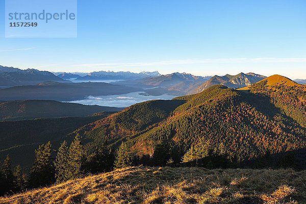
{"label": "left tree of the close pair of tall sunlit spruces", "polygon": [[68,180],[68,146],[67,142],[64,141],[55,159],[55,177],[56,182],[61,183]]}

